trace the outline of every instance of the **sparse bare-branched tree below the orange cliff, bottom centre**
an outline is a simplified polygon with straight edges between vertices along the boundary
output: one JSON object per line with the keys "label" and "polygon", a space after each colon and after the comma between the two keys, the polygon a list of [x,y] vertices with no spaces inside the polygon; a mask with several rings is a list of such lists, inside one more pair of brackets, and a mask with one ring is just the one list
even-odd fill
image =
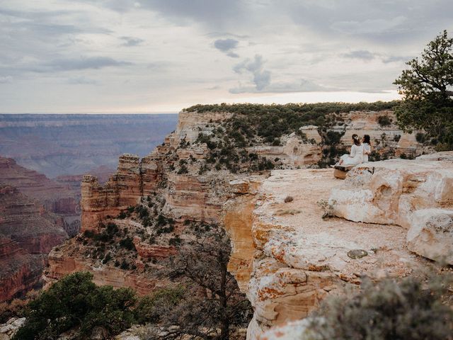
{"label": "sparse bare-branched tree below the orange cliff, bottom centre", "polygon": [[[175,303],[173,296],[144,304],[144,313],[159,325],[159,332],[144,339],[229,339],[231,328],[250,321],[250,302],[240,292],[227,270],[231,246],[229,237],[216,225],[197,226],[196,238],[180,246],[179,254],[161,271],[161,276],[185,287]],[[174,295],[174,294],[173,294]],[[158,319],[153,317],[160,315]]]}

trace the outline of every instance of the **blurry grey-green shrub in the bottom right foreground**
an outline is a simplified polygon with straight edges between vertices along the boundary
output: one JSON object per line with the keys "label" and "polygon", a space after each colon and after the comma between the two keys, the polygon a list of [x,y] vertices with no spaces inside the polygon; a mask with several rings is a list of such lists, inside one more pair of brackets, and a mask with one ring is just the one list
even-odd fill
{"label": "blurry grey-green shrub in the bottom right foreground", "polygon": [[453,310],[441,301],[449,283],[436,281],[364,280],[360,293],[328,298],[311,328],[317,339],[451,340]]}

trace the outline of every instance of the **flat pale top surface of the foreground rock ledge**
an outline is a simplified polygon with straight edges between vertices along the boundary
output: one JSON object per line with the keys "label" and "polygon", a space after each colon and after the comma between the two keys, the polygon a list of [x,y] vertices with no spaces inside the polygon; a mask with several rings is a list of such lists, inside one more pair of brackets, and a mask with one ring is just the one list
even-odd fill
{"label": "flat pale top surface of the foreground rock ledge", "polygon": [[[328,267],[346,277],[403,276],[411,271],[417,256],[406,247],[403,227],[321,218],[322,200],[341,183],[331,169],[273,171],[255,210],[260,223],[280,226],[263,244],[265,253],[293,268]],[[289,203],[287,196],[293,198]],[[354,250],[365,250],[367,256],[351,259],[348,252]]]}

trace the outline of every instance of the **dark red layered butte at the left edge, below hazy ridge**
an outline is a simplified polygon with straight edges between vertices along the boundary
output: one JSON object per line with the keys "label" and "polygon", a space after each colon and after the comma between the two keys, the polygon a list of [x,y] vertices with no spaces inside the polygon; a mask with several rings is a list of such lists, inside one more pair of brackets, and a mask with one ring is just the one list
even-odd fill
{"label": "dark red layered butte at the left edge, below hazy ridge", "polygon": [[30,290],[47,254],[67,237],[62,217],[46,212],[16,188],[0,184],[0,301]]}

